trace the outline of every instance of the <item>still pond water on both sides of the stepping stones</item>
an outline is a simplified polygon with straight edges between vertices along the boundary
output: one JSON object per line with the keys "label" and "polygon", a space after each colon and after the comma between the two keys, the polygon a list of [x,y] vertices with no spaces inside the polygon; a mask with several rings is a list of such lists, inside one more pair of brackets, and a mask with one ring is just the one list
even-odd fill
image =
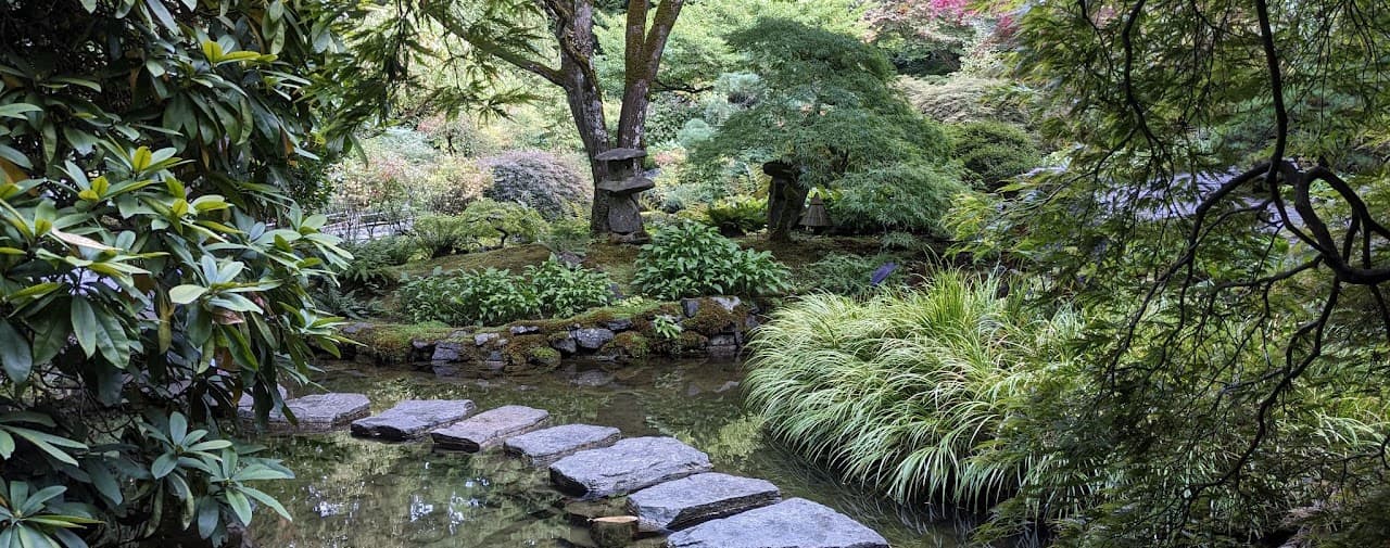
{"label": "still pond water on both sides of the stepping stones", "polygon": [[[894,547],[965,545],[963,524],[934,519],[844,486],[762,433],[742,408],[742,372],[728,362],[652,362],[613,373],[587,370],[461,379],[431,372],[331,363],[316,379],[329,391],[357,391],[373,412],[409,398],[467,398],[478,409],[520,404],[546,409],[552,425],[616,426],[624,436],[674,436],[709,454],[717,472],[767,479],[783,497],[802,497],[860,520]],[[385,444],[346,431],[260,440],[295,480],[267,486],[295,516],[259,512],[259,547],[423,548],[570,547],[587,533],[571,524],[545,469],[499,451],[432,452],[428,443]]]}

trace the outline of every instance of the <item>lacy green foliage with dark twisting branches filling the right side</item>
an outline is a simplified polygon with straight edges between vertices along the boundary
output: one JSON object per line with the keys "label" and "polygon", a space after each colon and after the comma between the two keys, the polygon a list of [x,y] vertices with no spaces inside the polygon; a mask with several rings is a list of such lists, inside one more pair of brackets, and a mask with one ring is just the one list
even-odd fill
{"label": "lacy green foliage with dark twisting branches filling the right side", "polygon": [[1065,538],[1270,542],[1382,481],[1387,32],[1376,1],[1027,12],[1019,65],[1077,147],[973,226],[1095,318],[1094,384],[1031,447],[1106,479],[1056,501]]}

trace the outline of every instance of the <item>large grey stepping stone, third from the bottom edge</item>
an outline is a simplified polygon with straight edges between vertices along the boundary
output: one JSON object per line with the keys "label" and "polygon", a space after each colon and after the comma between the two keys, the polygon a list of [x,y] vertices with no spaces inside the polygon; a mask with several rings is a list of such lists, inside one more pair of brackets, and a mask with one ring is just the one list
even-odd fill
{"label": "large grey stepping stone, third from the bottom edge", "polygon": [[599,498],[709,470],[709,455],[674,437],[632,437],[557,461],[550,465],[550,481]]}

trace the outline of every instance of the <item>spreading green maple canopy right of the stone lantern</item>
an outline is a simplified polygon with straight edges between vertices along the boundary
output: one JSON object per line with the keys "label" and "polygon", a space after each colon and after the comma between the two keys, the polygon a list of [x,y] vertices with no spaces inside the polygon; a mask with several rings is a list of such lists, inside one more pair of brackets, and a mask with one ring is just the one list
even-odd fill
{"label": "spreading green maple canopy right of the stone lantern", "polygon": [[890,85],[895,74],[878,50],[785,19],[762,19],[730,43],[748,55],[762,93],[696,146],[694,162],[781,162],[802,189],[841,191],[837,222],[938,229],[962,190],[945,165],[951,143]]}

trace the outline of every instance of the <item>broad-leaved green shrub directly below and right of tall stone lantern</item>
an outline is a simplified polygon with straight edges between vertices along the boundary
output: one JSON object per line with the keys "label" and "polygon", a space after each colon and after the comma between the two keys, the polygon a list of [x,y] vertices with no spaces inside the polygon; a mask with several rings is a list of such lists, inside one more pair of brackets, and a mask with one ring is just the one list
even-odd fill
{"label": "broad-leaved green shrub directly below and right of tall stone lantern", "polygon": [[744,250],[701,223],[676,222],[642,246],[632,283],[657,298],[759,296],[785,291],[790,276],[770,252]]}

